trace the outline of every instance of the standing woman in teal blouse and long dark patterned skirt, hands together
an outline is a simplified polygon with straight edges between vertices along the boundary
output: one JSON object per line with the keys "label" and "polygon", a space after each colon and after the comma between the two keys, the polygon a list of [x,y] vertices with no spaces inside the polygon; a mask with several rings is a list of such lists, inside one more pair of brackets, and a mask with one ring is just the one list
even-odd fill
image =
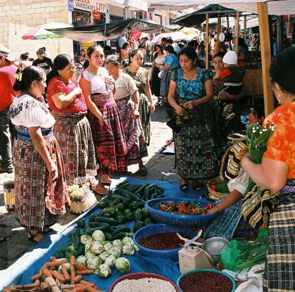
{"label": "standing woman in teal blouse and long dark patterned skirt, hands together", "polygon": [[174,133],[180,188],[192,181],[196,190],[201,182],[218,174],[212,117],[208,103],[213,98],[212,72],[197,67],[197,53],[185,47],[178,53],[181,69],[172,75],[168,101],[175,108],[178,133]]}

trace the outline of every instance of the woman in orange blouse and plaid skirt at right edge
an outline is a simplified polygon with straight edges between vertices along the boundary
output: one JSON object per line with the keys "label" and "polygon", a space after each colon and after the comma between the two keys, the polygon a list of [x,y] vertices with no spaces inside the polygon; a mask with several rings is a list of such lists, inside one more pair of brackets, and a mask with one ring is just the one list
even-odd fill
{"label": "woman in orange blouse and plaid skirt at right edge", "polygon": [[270,65],[272,90],[281,106],[266,117],[274,123],[261,164],[248,156],[241,167],[253,181],[280,191],[270,213],[264,291],[295,291],[295,48],[276,55]]}

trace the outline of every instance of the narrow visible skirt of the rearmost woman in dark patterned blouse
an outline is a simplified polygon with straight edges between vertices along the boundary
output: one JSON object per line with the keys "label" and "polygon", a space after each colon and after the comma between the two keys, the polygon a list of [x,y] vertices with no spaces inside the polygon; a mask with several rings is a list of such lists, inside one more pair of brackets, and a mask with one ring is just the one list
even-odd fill
{"label": "narrow visible skirt of the rearmost woman in dark patterned blouse", "polygon": [[151,130],[150,130],[150,106],[148,104],[148,97],[142,93],[139,97],[139,113],[140,113],[140,120],[142,123],[142,127],[145,134],[145,139],[147,146],[149,145]]}

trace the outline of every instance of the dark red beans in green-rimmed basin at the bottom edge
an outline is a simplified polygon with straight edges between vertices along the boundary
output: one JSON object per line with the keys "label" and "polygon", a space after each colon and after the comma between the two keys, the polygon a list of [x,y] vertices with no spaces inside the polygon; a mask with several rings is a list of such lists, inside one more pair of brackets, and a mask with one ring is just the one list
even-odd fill
{"label": "dark red beans in green-rimmed basin at the bottom edge", "polygon": [[233,283],[221,274],[198,272],[182,277],[179,287],[183,292],[231,292]]}

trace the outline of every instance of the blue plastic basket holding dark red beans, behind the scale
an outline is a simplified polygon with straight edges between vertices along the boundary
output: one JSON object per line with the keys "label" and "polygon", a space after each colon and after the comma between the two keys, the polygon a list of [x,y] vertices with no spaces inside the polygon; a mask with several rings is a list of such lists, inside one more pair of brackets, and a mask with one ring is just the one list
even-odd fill
{"label": "blue plastic basket holding dark red beans, behind the scale", "polygon": [[165,224],[151,224],[138,230],[133,236],[134,243],[138,246],[140,253],[145,257],[152,258],[165,258],[172,261],[178,261],[178,250],[182,247],[169,250],[154,250],[143,247],[139,244],[140,240],[144,237],[155,235],[158,233],[170,233],[170,232],[181,232],[190,235],[191,238],[196,236],[196,233],[190,228],[174,227]]}

